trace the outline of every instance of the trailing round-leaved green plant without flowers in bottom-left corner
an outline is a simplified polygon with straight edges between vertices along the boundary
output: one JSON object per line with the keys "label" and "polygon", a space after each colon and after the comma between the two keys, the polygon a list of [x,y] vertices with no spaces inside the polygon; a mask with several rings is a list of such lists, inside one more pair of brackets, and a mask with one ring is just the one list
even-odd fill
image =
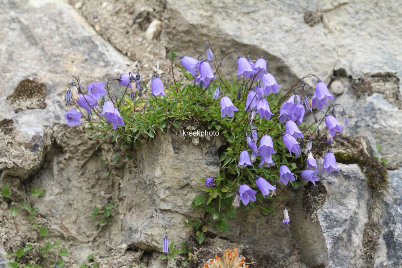
{"label": "trailing round-leaved green plant without flowers in bottom-left corner", "polygon": [[[11,191],[10,187],[7,185],[2,185],[1,187],[2,196],[11,200]],[[40,198],[45,196],[45,190],[39,190],[37,188],[33,188],[31,190],[31,196],[34,198]],[[16,217],[18,215],[18,206],[15,200],[11,200],[10,205],[12,208],[10,209],[10,214],[12,217]],[[64,266],[64,261],[62,259],[49,260],[47,259],[54,259],[56,256],[68,256],[69,253],[65,248],[60,248],[62,244],[61,241],[49,241],[46,239],[47,234],[49,233],[49,229],[44,226],[38,226],[35,222],[35,215],[37,214],[38,210],[32,207],[32,202],[18,202],[19,207],[25,209],[28,213],[28,220],[32,223],[32,228],[39,233],[39,240],[38,243],[42,243],[43,246],[35,247],[31,244],[26,244],[23,248],[18,248],[13,253],[8,253],[8,258],[14,258],[13,262],[8,262],[7,266],[9,268],[43,268],[39,264],[22,264],[22,258],[27,255],[32,250],[39,250],[41,257],[44,259],[43,262],[49,262],[50,265],[54,264],[58,267]],[[17,226],[17,223],[16,223]]]}

